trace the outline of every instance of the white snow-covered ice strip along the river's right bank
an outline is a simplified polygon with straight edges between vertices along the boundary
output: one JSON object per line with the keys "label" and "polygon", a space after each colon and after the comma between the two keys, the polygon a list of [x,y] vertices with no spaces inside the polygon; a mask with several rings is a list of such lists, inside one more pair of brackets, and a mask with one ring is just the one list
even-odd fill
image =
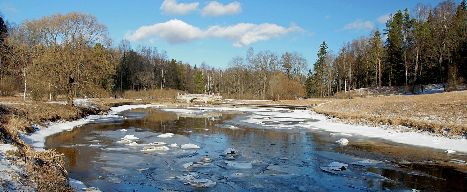
{"label": "white snow-covered ice strip along the river's right bank", "polygon": [[[297,124],[293,126],[281,126],[281,128],[295,129],[295,128],[308,128],[323,129],[328,132],[333,132],[336,135],[345,136],[366,136],[370,138],[379,138],[393,141],[396,143],[407,144],[412,146],[423,146],[433,149],[439,149],[439,152],[446,150],[453,150],[455,152],[467,153],[467,139],[453,139],[446,137],[439,137],[428,132],[414,132],[414,131],[399,131],[397,126],[389,126],[392,128],[383,129],[381,127],[372,126],[356,126],[342,123],[335,123],[327,119],[325,115],[321,115],[311,110],[296,110],[293,113],[281,113],[275,111],[264,112],[261,109],[252,110],[251,108],[225,108],[225,107],[195,107],[205,110],[234,110],[251,112],[248,119],[241,120],[241,122],[249,123],[255,127],[276,129],[276,125],[267,125],[267,122],[291,121]],[[264,119],[265,116],[276,116],[275,118]],[[277,118],[282,119],[277,119]],[[318,121],[301,122],[306,119],[317,119]],[[258,122],[266,123],[266,125],[258,125]],[[344,133],[344,134],[341,134]],[[352,140],[350,140],[352,142]]]}

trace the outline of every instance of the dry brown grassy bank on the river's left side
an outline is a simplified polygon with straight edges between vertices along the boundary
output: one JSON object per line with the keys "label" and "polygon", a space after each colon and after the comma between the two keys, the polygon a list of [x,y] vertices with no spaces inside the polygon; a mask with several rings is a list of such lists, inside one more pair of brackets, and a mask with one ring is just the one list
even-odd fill
{"label": "dry brown grassy bank on the river's left side", "polygon": [[72,121],[90,114],[98,114],[109,109],[95,104],[97,108],[77,105],[77,108],[59,103],[22,101],[15,97],[0,97],[0,143],[16,146],[19,152],[9,152],[16,162],[21,162],[21,183],[38,192],[76,191],[68,184],[63,154],[53,150],[35,151],[19,137],[19,131],[34,132],[31,123],[42,125],[45,122],[60,120]]}

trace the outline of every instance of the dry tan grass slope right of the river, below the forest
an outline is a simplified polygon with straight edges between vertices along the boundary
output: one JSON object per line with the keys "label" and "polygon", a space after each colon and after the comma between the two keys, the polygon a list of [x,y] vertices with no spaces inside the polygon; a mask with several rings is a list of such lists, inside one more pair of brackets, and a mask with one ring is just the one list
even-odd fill
{"label": "dry tan grass slope right of the river, below the forest", "polygon": [[379,98],[337,99],[314,107],[341,119],[369,119],[388,125],[467,134],[467,91]]}

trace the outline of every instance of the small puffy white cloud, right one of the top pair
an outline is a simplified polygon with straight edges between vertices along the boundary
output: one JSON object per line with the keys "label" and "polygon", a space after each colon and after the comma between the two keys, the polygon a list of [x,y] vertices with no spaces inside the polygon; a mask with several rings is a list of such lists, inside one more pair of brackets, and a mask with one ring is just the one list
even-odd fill
{"label": "small puffy white cloud, right one of the top pair", "polygon": [[221,15],[234,15],[241,13],[241,4],[237,1],[233,1],[227,5],[219,3],[217,1],[209,2],[206,7],[201,10],[201,16],[221,16]]}

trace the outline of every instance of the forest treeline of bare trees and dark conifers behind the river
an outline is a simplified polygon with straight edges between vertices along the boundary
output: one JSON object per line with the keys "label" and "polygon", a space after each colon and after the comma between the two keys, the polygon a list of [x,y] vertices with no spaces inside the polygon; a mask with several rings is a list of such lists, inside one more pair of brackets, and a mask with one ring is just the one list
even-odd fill
{"label": "forest treeline of bare trees and dark conifers behind the river", "polygon": [[21,90],[33,100],[58,94],[103,97],[125,91],[178,89],[222,93],[231,99],[325,98],[369,86],[404,86],[423,92],[442,83],[465,88],[467,12],[442,1],[391,14],[386,27],[345,42],[337,51],[325,41],[310,68],[299,52],[274,53],[250,47],[228,66],[193,65],[151,46],[109,38],[91,14],[52,14],[19,24],[0,20],[0,94]]}

